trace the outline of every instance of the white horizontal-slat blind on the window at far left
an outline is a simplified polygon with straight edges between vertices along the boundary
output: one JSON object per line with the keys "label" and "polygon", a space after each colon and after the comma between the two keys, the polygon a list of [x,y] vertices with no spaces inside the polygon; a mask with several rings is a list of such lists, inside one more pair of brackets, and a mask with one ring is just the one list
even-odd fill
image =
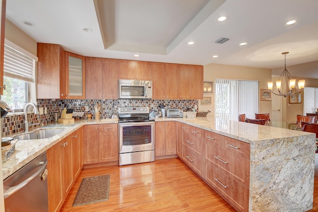
{"label": "white horizontal-slat blind on the window at far left", "polygon": [[34,59],[4,45],[3,75],[20,79],[26,82],[34,82]]}

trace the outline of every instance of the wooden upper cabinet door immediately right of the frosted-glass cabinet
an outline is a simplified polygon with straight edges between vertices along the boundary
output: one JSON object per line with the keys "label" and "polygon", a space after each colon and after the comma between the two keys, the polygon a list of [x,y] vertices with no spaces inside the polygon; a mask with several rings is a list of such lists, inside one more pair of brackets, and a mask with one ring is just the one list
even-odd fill
{"label": "wooden upper cabinet door immediately right of the frosted-glass cabinet", "polygon": [[101,66],[101,58],[85,58],[85,87],[87,99],[99,99],[102,96]]}

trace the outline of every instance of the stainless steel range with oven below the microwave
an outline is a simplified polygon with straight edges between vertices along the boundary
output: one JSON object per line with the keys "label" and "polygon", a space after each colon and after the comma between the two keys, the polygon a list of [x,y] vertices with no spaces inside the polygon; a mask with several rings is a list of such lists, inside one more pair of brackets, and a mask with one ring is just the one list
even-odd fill
{"label": "stainless steel range with oven below the microwave", "polygon": [[155,161],[155,121],[149,107],[120,107],[119,165]]}

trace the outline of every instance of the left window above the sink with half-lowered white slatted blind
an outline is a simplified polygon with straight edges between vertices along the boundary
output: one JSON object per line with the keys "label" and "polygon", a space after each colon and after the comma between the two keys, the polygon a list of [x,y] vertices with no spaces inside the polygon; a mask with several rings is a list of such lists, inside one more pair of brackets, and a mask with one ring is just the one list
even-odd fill
{"label": "left window above the sink with half-lowered white slatted blind", "polygon": [[[12,46],[15,46],[12,44]],[[21,50],[19,47],[17,49]],[[34,87],[35,59],[4,45],[3,84],[5,90],[1,99],[15,112],[21,111],[26,103],[35,97],[35,92],[29,95],[29,87]],[[29,53],[28,53],[29,54]],[[36,58],[36,57],[35,57]],[[34,90],[32,89],[31,90]]]}

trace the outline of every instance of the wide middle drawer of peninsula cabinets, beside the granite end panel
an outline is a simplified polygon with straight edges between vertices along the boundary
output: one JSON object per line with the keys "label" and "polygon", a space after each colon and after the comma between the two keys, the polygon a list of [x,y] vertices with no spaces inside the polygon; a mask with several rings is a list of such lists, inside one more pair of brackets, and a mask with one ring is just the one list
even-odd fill
{"label": "wide middle drawer of peninsula cabinets, beside the granite end panel", "polygon": [[237,182],[249,188],[249,163],[250,161],[220,148],[213,141],[206,141],[206,160],[224,170]]}

